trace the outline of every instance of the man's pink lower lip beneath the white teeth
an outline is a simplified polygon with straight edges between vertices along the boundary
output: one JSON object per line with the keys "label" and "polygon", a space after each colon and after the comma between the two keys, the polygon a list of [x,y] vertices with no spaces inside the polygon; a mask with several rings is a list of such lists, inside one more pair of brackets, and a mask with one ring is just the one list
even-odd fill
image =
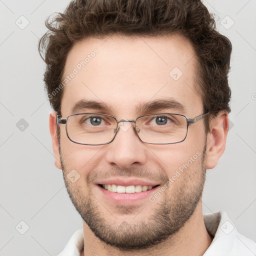
{"label": "man's pink lower lip beneath the white teeth", "polygon": [[128,205],[145,199],[154,193],[158,186],[146,191],[135,192],[135,193],[117,193],[106,190],[105,188],[97,185],[99,191],[108,199],[116,204]]}

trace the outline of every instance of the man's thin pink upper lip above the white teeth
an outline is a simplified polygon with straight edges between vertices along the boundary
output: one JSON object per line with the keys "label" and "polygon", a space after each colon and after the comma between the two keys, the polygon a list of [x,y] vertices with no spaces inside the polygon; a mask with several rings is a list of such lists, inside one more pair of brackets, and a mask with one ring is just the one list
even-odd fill
{"label": "man's thin pink upper lip above the white teeth", "polygon": [[109,179],[102,179],[96,182],[96,184],[116,184],[122,186],[131,186],[131,185],[144,185],[144,186],[155,186],[159,185],[160,183],[156,183],[153,181],[148,181],[145,179],[138,179],[138,178],[123,178],[123,177],[115,177]]}

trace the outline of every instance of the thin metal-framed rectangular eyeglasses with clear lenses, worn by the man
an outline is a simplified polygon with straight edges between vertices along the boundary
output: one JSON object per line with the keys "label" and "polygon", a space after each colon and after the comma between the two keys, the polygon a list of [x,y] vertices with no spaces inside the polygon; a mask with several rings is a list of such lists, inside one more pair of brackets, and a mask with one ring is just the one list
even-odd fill
{"label": "thin metal-framed rectangular eyeglasses with clear lenses, worn by the man", "polygon": [[103,145],[114,140],[120,128],[120,122],[133,122],[133,129],[142,142],[173,144],[183,141],[187,135],[188,125],[200,120],[206,114],[208,113],[187,118],[183,114],[155,113],[139,116],[135,120],[117,120],[109,114],[77,113],[65,119],[57,115],[56,126],[65,124],[66,135],[74,143]]}

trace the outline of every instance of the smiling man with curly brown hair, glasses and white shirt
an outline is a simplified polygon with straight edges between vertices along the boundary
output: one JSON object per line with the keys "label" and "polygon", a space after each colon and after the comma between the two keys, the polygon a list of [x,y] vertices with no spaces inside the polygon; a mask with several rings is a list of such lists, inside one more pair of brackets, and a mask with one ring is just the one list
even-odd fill
{"label": "smiling man with curly brown hair, glasses and white shirt", "polygon": [[[76,0],[40,40],[55,165],[83,219],[63,255],[255,255],[202,214],[231,43],[199,0]],[[225,225],[232,230],[221,230]]]}

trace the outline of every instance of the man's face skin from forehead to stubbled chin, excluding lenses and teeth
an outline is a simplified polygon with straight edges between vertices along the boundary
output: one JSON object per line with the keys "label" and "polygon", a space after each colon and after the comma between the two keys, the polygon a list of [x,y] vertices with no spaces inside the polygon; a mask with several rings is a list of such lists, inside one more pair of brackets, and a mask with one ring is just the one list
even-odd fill
{"label": "man's face skin from forehead to stubbled chin, excluding lenses and teeth", "polygon": [[[98,53],[90,54],[95,48]],[[78,65],[79,70],[77,64],[88,54],[89,61],[84,67]],[[78,73],[64,87],[62,118],[84,112],[110,114],[116,119],[148,113],[172,112],[187,118],[202,114],[194,51],[180,36],[84,39],[70,50],[63,76],[74,68]],[[97,101],[109,109],[80,104],[72,111],[81,100]],[[184,109],[138,109],[160,100],[175,100]],[[204,125],[201,119],[189,126],[184,141],[160,145],[143,143],[134,124],[124,124],[129,125],[121,122],[114,140],[105,145],[73,143],[60,124],[61,166],[69,196],[94,234],[117,247],[142,248],[177,232],[198,205],[205,177]],[[74,174],[73,180],[69,173]],[[100,184],[158,186],[117,193]]]}

